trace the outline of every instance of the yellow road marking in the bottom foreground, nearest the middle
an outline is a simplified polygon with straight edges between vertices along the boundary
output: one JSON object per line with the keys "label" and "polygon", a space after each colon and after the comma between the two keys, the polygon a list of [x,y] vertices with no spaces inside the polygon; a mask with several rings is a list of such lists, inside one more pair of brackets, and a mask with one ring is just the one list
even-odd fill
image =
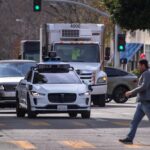
{"label": "yellow road marking in the bottom foreground, nearest the middle", "polygon": [[82,148],[96,148],[94,145],[87,143],[82,140],[77,140],[77,141],[61,141],[60,144],[63,144],[65,146],[69,146],[71,148],[75,149],[82,149]]}

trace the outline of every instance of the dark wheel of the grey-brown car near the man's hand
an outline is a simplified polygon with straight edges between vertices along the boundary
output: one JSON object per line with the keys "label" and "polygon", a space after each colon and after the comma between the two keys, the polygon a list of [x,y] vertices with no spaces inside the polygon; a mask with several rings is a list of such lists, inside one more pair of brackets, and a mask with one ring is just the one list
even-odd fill
{"label": "dark wheel of the grey-brown car near the man's hand", "polygon": [[116,103],[125,103],[128,98],[125,97],[125,92],[129,89],[125,86],[118,86],[113,92],[113,99]]}

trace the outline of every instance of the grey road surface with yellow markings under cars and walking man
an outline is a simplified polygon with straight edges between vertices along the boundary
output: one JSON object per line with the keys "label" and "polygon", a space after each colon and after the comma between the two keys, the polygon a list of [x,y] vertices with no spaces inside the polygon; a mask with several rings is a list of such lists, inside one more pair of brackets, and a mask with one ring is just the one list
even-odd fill
{"label": "grey road surface with yellow markings under cars and walking man", "polygon": [[125,136],[135,101],[92,107],[91,119],[67,114],[43,114],[36,119],[17,118],[14,109],[0,110],[0,150],[149,150],[150,123],[145,117],[133,145],[118,142]]}

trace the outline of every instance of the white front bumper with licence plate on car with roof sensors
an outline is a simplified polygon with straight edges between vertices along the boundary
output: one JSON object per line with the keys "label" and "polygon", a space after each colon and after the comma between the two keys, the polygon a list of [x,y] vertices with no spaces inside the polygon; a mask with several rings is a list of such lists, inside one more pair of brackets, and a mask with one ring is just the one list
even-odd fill
{"label": "white front bumper with licence plate on car with roof sensors", "polygon": [[[46,96],[47,97],[47,96]],[[88,97],[80,97],[77,98],[74,102],[69,103],[55,103],[51,102],[47,98],[30,98],[31,101],[31,110],[35,112],[82,112],[82,111],[90,111],[91,106],[91,98],[90,95]]]}

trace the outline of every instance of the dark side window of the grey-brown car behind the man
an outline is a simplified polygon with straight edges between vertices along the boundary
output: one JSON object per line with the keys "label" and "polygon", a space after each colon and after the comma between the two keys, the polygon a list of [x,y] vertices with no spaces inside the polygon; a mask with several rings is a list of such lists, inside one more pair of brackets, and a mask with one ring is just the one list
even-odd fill
{"label": "dark side window of the grey-brown car behind the man", "polygon": [[109,68],[105,67],[105,72],[108,77],[117,77],[117,76],[126,76],[128,75],[127,72],[116,69],[116,68]]}

